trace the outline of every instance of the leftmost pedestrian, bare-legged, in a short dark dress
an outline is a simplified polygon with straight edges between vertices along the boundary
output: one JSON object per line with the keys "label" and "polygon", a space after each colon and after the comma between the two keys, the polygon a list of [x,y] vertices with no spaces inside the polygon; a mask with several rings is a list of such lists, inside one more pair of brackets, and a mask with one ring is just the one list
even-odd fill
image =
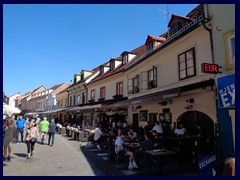
{"label": "leftmost pedestrian, bare-legged, in a short dark dress", "polygon": [[[3,149],[4,149],[4,158],[3,160],[10,161],[12,153],[12,143],[16,138],[16,127],[12,124],[12,119],[8,118],[3,129]],[[8,156],[7,156],[8,151]]]}

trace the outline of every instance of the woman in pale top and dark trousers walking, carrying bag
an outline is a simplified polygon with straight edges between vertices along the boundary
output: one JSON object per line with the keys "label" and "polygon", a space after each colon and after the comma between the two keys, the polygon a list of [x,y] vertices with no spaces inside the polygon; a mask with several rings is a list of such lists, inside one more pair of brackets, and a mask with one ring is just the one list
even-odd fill
{"label": "woman in pale top and dark trousers walking, carrying bag", "polygon": [[27,159],[33,155],[35,143],[39,139],[38,129],[34,125],[34,122],[29,121],[28,128],[26,130],[25,141],[27,144]]}

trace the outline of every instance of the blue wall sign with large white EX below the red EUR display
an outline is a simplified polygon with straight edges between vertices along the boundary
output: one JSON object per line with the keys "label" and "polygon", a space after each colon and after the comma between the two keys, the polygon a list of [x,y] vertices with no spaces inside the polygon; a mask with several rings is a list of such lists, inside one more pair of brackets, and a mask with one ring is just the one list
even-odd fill
{"label": "blue wall sign with large white EX below the red EUR display", "polygon": [[235,108],[235,74],[217,78],[218,105]]}

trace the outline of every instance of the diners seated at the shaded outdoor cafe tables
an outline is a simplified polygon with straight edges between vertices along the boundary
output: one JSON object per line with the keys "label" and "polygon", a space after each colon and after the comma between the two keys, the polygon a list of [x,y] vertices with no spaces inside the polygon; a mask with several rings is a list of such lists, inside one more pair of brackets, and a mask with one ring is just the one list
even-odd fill
{"label": "diners seated at the shaded outdoor cafe tables", "polygon": [[[179,124],[175,131],[173,131],[174,133],[176,136],[184,135],[185,129],[182,124]],[[110,139],[110,136],[112,139]],[[154,125],[148,123],[144,128],[139,129],[128,126],[125,121],[112,121],[110,123],[97,124],[93,139],[98,149],[109,148],[111,145],[109,142],[112,142],[115,153],[119,156],[128,156],[128,168],[133,169],[138,168],[139,162],[137,162],[137,159],[140,159],[139,155],[143,151],[164,148],[164,136],[164,130],[159,121],[156,121]],[[125,145],[128,143],[138,143],[139,148],[126,148]]]}

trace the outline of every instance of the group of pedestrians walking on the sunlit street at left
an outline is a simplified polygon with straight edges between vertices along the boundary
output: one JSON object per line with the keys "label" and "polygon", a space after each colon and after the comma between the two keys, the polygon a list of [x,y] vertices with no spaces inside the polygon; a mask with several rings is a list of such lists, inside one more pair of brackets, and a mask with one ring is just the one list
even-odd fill
{"label": "group of pedestrians walking on the sunlit street at left", "polygon": [[49,122],[46,117],[26,118],[22,115],[8,117],[3,123],[3,160],[10,161],[12,144],[26,143],[27,159],[33,156],[35,144],[45,144],[48,136],[48,145],[54,145],[56,124],[54,119]]}

